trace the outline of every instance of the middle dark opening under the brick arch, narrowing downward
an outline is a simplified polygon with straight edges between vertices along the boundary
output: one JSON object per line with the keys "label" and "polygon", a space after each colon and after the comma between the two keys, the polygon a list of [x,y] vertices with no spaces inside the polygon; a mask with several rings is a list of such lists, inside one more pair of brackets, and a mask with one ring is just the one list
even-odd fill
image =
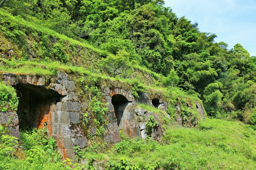
{"label": "middle dark opening under the brick arch, narrowing downward", "polygon": [[123,117],[125,108],[129,104],[129,101],[123,95],[115,94],[114,96],[112,96],[111,102],[114,106],[114,111],[115,111],[116,119],[117,119],[117,125],[119,126],[120,121]]}

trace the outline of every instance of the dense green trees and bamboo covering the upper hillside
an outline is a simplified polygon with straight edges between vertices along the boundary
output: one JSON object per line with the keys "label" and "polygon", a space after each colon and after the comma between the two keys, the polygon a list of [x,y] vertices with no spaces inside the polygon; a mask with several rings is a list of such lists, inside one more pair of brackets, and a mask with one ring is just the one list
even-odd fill
{"label": "dense green trees and bamboo covering the upper hillside", "polygon": [[[106,51],[102,57],[114,54],[102,59],[110,76],[126,72],[128,60],[139,63],[169,75],[163,80],[166,87],[178,86],[199,96],[209,116],[250,123],[256,103],[256,58],[240,44],[228,50],[225,42],[214,42],[217,35],[200,32],[198,23],[177,18],[163,4],[162,0],[12,0],[3,8],[60,34],[86,40]],[[56,44],[45,54],[67,63],[63,50]]]}

